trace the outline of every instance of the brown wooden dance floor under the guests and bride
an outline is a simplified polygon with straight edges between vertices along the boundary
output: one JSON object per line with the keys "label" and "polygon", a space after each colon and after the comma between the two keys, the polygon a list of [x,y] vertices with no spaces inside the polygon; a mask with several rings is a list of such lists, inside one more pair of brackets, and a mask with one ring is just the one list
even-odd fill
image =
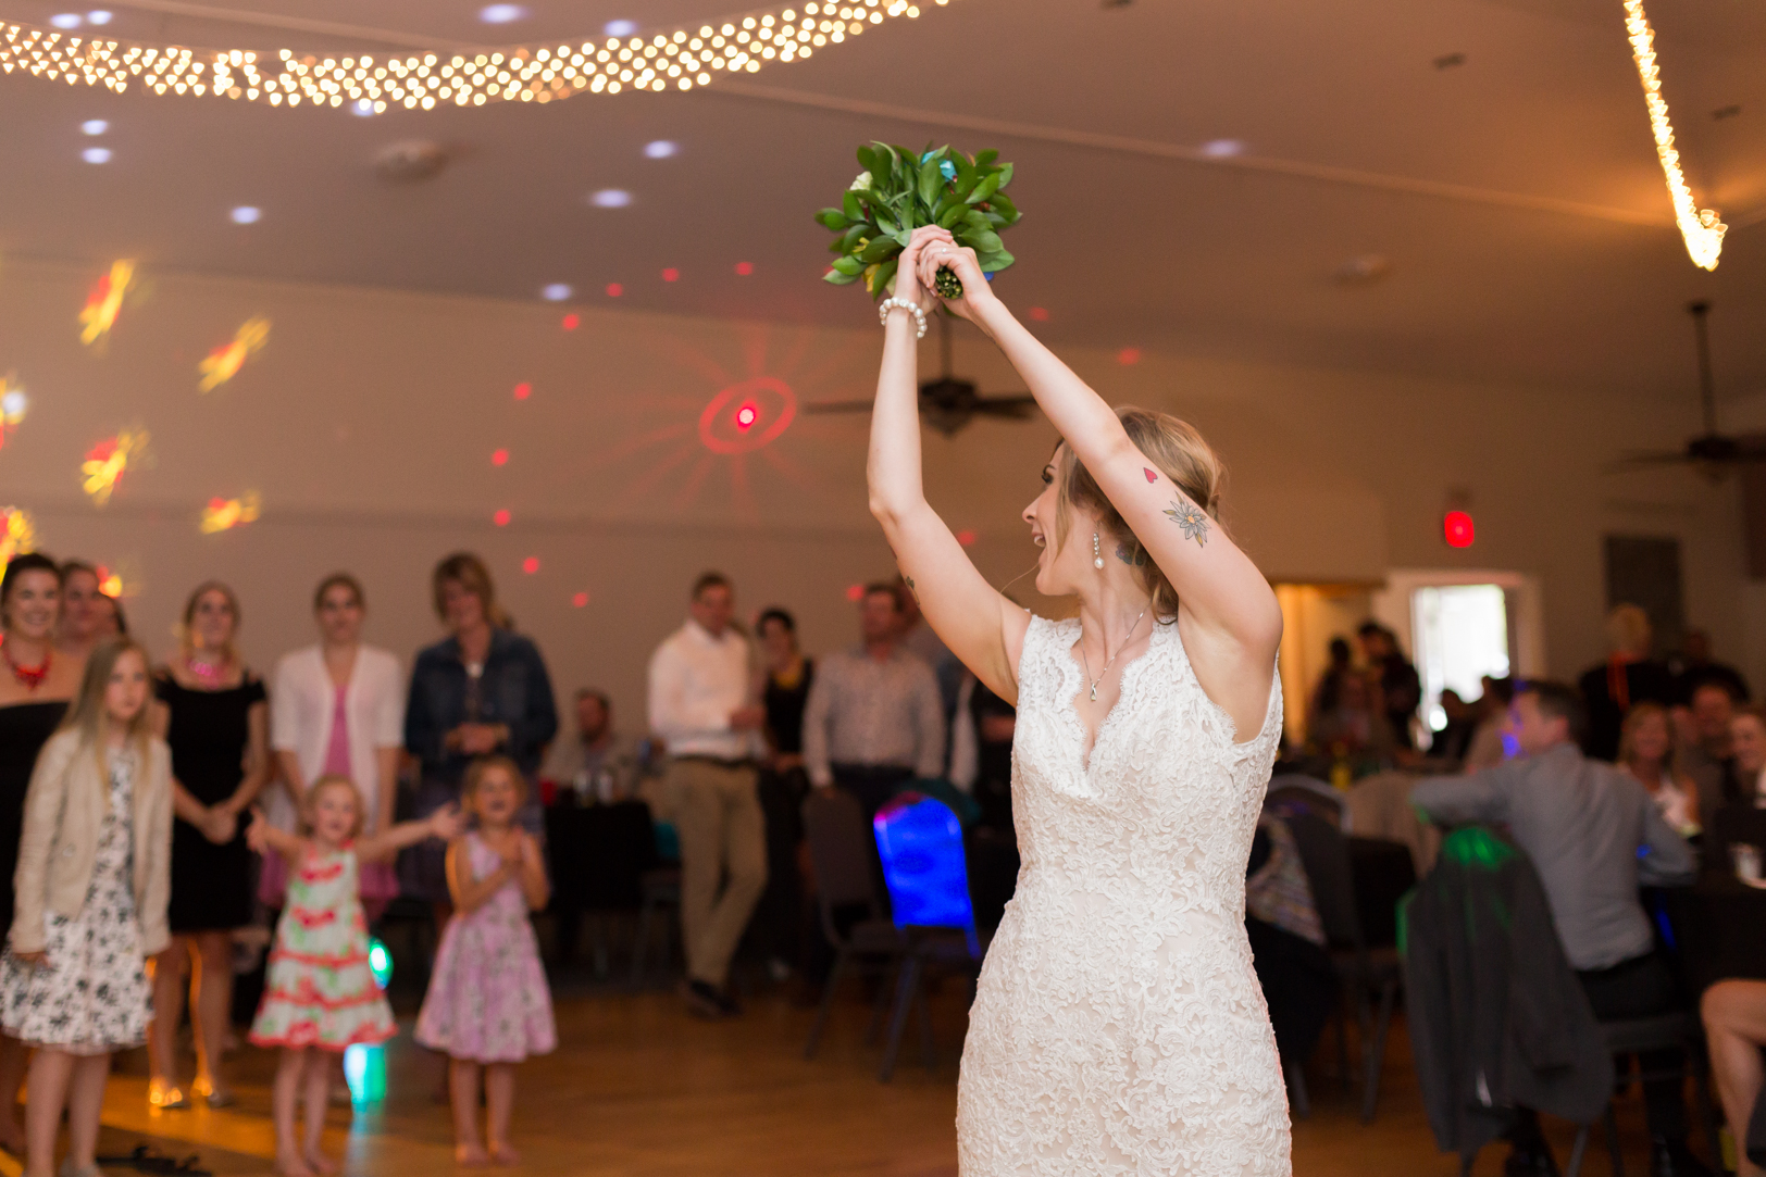
{"label": "brown wooden dance floor under the guests and bride", "polygon": [[[562,992],[558,1053],[525,1064],[517,1076],[514,1138],[523,1165],[487,1172],[954,1177],[959,990],[950,985],[934,997],[936,1073],[911,1048],[887,1085],[876,1080],[878,1048],[862,1043],[867,1006],[857,986],[837,1006],[814,1062],[800,1053],[811,1011],[770,992],[751,1001],[745,1018],[712,1025],[689,1020],[668,993]],[[348,1158],[346,1173],[431,1177],[454,1168],[447,1108],[436,1103],[442,1064],[411,1045],[410,1022],[401,1009],[404,1034],[387,1048],[385,1099],[353,1115],[332,1110],[327,1143]],[[1312,1119],[1294,1126],[1298,1177],[1457,1173],[1455,1159],[1438,1154],[1429,1136],[1402,1020],[1374,1124],[1356,1119],[1356,1101],[1330,1075],[1332,1057],[1326,1036],[1312,1068]],[[200,1152],[217,1175],[268,1172],[274,1059],[247,1046],[231,1066],[235,1108],[150,1112],[145,1059],[127,1057],[106,1098],[102,1151],[129,1152],[145,1142],[171,1156]],[[1621,1101],[1619,1122],[1632,1172],[1648,1172],[1635,1094]],[[1565,1161],[1568,1128],[1547,1122],[1547,1131]],[[1501,1161],[1501,1147],[1485,1149],[1478,1175],[1499,1173]],[[0,1170],[16,1173],[18,1163],[0,1154]],[[1611,1172],[1598,1133],[1584,1172]]]}

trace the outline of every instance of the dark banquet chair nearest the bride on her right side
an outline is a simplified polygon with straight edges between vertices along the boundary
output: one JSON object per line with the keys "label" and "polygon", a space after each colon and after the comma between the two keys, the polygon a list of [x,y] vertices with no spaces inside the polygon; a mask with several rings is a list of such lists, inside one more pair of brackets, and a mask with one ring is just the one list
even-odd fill
{"label": "dark banquet chair nearest the bride on her right side", "polygon": [[[1355,873],[1349,840],[1310,808],[1284,812],[1300,861],[1312,888],[1312,902],[1324,928],[1324,942],[1344,992],[1355,1006],[1362,1045],[1362,1122],[1374,1121],[1379,1105],[1379,1075],[1385,1068],[1386,1034],[1402,986],[1402,969],[1395,948],[1369,948],[1355,900]],[[1377,1006],[1374,999],[1377,997]],[[1337,1053],[1347,1082],[1347,1041],[1344,1018],[1337,1018]]]}

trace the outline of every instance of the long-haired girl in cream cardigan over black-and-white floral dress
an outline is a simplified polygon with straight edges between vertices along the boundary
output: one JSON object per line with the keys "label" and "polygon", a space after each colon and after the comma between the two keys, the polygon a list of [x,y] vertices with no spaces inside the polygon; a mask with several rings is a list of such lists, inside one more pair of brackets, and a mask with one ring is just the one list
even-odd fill
{"label": "long-haired girl in cream cardigan over black-and-white floral dress", "polygon": [[37,757],[18,849],[18,909],[0,958],[0,1023],[37,1048],[25,1106],[28,1177],[97,1177],[109,1055],[147,1041],[147,960],[166,948],[171,753],[147,720],[147,651],[99,646]]}

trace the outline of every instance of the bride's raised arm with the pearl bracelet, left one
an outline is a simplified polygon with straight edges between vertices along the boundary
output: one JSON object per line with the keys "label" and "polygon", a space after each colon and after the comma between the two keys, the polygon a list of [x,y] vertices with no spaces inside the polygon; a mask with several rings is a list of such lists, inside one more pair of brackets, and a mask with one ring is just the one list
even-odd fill
{"label": "bride's raised arm with the pearl bracelet, left one", "polygon": [[[936,298],[918,281],[920,231],[902,251],[895,298],[936,311]],[[911,311],[888,311],[883,330],[883,369],[871,413],[871,514],[895,551],[895,563],[918,598],[927,623],[991,692],[1017,699],[1017,655],[1030,614],[1001,596],[957,544],[945,521],[925,501],[920,482],[920,392],[917,381],[918,319]]]}

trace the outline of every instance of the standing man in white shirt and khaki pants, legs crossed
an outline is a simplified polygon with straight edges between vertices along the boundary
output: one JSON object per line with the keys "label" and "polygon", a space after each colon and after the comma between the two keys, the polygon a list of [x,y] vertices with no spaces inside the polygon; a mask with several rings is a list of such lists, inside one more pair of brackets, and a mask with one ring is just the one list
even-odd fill
{"label": "standing man in white shirt and khaki pants, legs crossed", "polygon": [[729,992],[729,958],[766,888],[756,769],[766,713],[754,693],[749,641],[729,625],[735,611],[729,579],[703,574],[687,623],[650,658],[650,731],[669,752],[680,831],[683,995],[701,1018],[742,1013]]}

